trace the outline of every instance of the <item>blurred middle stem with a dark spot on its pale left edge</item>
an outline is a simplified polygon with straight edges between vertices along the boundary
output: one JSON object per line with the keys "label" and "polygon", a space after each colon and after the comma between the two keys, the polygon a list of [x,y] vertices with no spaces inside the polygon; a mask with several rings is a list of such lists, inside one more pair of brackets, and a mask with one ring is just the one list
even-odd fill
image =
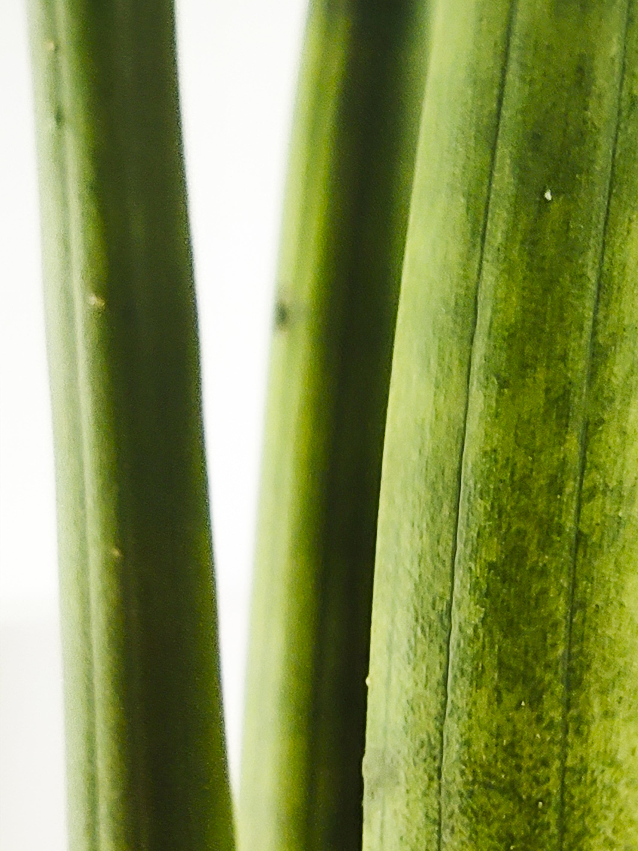
{"label": "blurred middle stem with a dark spot on its pale left edge", "polygon": [[310,4],[271,350],[243,851],[361,846],[380,461],[428,9]]}

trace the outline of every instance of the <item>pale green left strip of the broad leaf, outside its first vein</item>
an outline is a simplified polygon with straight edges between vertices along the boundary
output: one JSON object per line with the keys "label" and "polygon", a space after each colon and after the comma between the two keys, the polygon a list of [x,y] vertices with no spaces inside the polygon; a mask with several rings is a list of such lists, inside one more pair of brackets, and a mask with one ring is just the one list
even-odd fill
{"label": "pale green left strip of the broad leaf, outside its first vein", "polygon": [[511,3],[440,3],[392,362],[374,579],[367,851],[440,841],[470,351]]}

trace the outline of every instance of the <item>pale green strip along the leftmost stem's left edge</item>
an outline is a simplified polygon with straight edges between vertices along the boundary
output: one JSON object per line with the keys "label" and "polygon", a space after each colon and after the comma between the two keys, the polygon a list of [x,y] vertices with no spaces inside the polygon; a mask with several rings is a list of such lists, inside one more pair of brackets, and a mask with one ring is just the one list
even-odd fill
{"label": "pale green strip along the leftmost stem's left edge", "polygon": [[60,92],[59,22],[53,3],[30,5],[37,104],[44,301],[54,420],[60,621],[65,677],[66,799],[69,846],[95,851],[97,797],[93,649],[88,590],[82,424],[75,304],[69,286],[69,199]]}

